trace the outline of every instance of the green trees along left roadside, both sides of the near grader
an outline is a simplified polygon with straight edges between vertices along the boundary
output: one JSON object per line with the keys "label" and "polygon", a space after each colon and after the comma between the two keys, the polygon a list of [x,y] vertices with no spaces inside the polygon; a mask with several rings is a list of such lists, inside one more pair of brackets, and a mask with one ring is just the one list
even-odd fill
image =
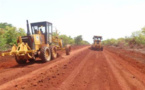
{"label": "green trees along left roadside, both sides of the near grader", "polygon": [[[8,50],[14,44],[17,44],[18,36],[25,36],[26,32],[22,28],[16,28],[12,24],[0,23],[0,51]],[[82,35],[78,35],[75,38],[67,36],[64,34],[57,34],[54,32],[54,35],[63,39],[64,45],[88,45],[89,42],[84,41]]]}

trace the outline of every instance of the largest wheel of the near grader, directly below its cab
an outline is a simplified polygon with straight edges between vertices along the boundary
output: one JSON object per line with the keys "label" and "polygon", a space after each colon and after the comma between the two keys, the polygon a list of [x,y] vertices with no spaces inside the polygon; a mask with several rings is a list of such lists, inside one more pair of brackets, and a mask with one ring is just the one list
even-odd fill
{"label": "largest wheel of the near grader, directly below its cab", "polygon": [[51,51],[48,47],[42,47],[40,50],[40,58],[43,62],[51,60]]}

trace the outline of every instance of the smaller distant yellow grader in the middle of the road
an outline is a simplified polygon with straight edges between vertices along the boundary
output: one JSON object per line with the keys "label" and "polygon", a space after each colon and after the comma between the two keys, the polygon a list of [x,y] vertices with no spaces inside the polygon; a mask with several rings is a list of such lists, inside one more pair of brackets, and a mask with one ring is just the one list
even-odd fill
{"label": "smaller distant yellow grader in the middle of the road", "polygon": [[102,36],[94,36],[93,37],[94,42],[93,42],[91,48],[93,50],[103,51],[103,46],[101,44],[101,40],[102,40]]}

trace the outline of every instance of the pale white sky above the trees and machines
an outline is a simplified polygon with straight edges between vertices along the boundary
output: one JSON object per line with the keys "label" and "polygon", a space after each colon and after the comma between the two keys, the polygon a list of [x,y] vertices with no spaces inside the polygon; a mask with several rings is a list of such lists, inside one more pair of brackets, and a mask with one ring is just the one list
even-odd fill
{"label": "pale white sky above the trees and machines", "polygon": [[0,0],[0,22],[26,30],[27,19],[90,43],[94,35],[117,39],[145,26],[145,0]]}

